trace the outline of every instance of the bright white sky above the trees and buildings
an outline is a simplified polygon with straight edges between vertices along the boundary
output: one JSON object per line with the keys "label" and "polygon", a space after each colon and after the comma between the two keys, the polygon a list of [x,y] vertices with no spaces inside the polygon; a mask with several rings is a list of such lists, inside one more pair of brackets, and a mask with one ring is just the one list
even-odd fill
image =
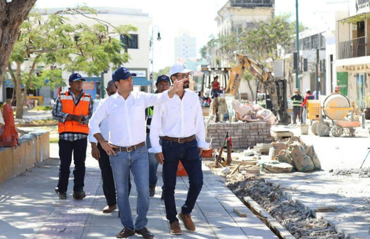
{"label": "bright white sky above the trees and buildings", "polygon": [[[296,0],[275,0],[275,14],[290,14],[295,20]],[[305,26],[325,28],[327,16],[335,5],[346,5],[349,0],[299,0],[299,18]],[[183,32],[196,37],[197,53],[217,35],[214,18],[227,0],[37,0],[36,8],[71,7],[86,3],[89,7],[139,8],[152,17],[158,26],[161,40],[154,43],[154,70],[174,64],[174,38]],[[150,28],[151,32],[151,28]],[[200,57],[200,54],[198,53]]]}

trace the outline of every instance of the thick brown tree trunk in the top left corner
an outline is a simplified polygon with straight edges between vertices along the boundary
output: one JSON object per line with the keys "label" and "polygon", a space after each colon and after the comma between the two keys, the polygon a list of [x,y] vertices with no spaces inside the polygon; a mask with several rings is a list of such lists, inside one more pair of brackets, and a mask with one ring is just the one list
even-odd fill
{"label": "thick brown tree trunk in the top left corner", "polygon": [[17,40],[19,26],[27,18],[35,2],[36,0],[0,0],[0,79],[5,73]]}

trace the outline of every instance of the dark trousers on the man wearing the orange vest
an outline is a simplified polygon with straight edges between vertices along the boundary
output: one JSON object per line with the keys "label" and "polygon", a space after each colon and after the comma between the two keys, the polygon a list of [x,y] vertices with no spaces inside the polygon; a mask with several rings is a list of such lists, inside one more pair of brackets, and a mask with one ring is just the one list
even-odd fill
{"label": "dark trousers on the man wearing the orange vest", "polygon": [[58,191],[62,193],[67,192],[68,179],[70,178],[70,163],[72,161],[72,152],[74,163],[73,191],[83,190],[88,138],[78,139],[74,141],[59,138],[58,144],[60,158]]}

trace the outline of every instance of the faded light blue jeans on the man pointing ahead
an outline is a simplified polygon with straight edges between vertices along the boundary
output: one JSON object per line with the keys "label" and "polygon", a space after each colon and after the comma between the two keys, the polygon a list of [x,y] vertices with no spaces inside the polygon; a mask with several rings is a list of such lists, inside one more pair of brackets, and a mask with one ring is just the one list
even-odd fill
{"label": "faded light blue jeans on the man pointing ahead", "polygon": [[[148,223],[146,214],[149,209],[149,163],[148,150],[142,146],[131,152],[116,152],[110,155],[114,183],[117,192],[117,205],[120,210],[122,225],[129,230],[140,230]],[[136,222],[133,224],[130,203],[128,201],[128,174],[134,176],[138,201]]]}

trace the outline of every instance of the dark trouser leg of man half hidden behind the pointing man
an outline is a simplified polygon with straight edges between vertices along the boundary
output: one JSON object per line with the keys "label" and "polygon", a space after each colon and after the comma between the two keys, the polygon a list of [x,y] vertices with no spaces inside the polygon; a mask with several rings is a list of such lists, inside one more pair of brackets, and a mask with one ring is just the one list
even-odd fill
{"label": "dark trouser leg of man half hidden behind the pointing man", "polygon": [[102,171],[103,192],[106,197],[106,204],[109,206],[116,205],[116,187],[114,185],[109,156],[106,154],[100,143],[98,143],[98,149],[100,151],[99,168]]}

